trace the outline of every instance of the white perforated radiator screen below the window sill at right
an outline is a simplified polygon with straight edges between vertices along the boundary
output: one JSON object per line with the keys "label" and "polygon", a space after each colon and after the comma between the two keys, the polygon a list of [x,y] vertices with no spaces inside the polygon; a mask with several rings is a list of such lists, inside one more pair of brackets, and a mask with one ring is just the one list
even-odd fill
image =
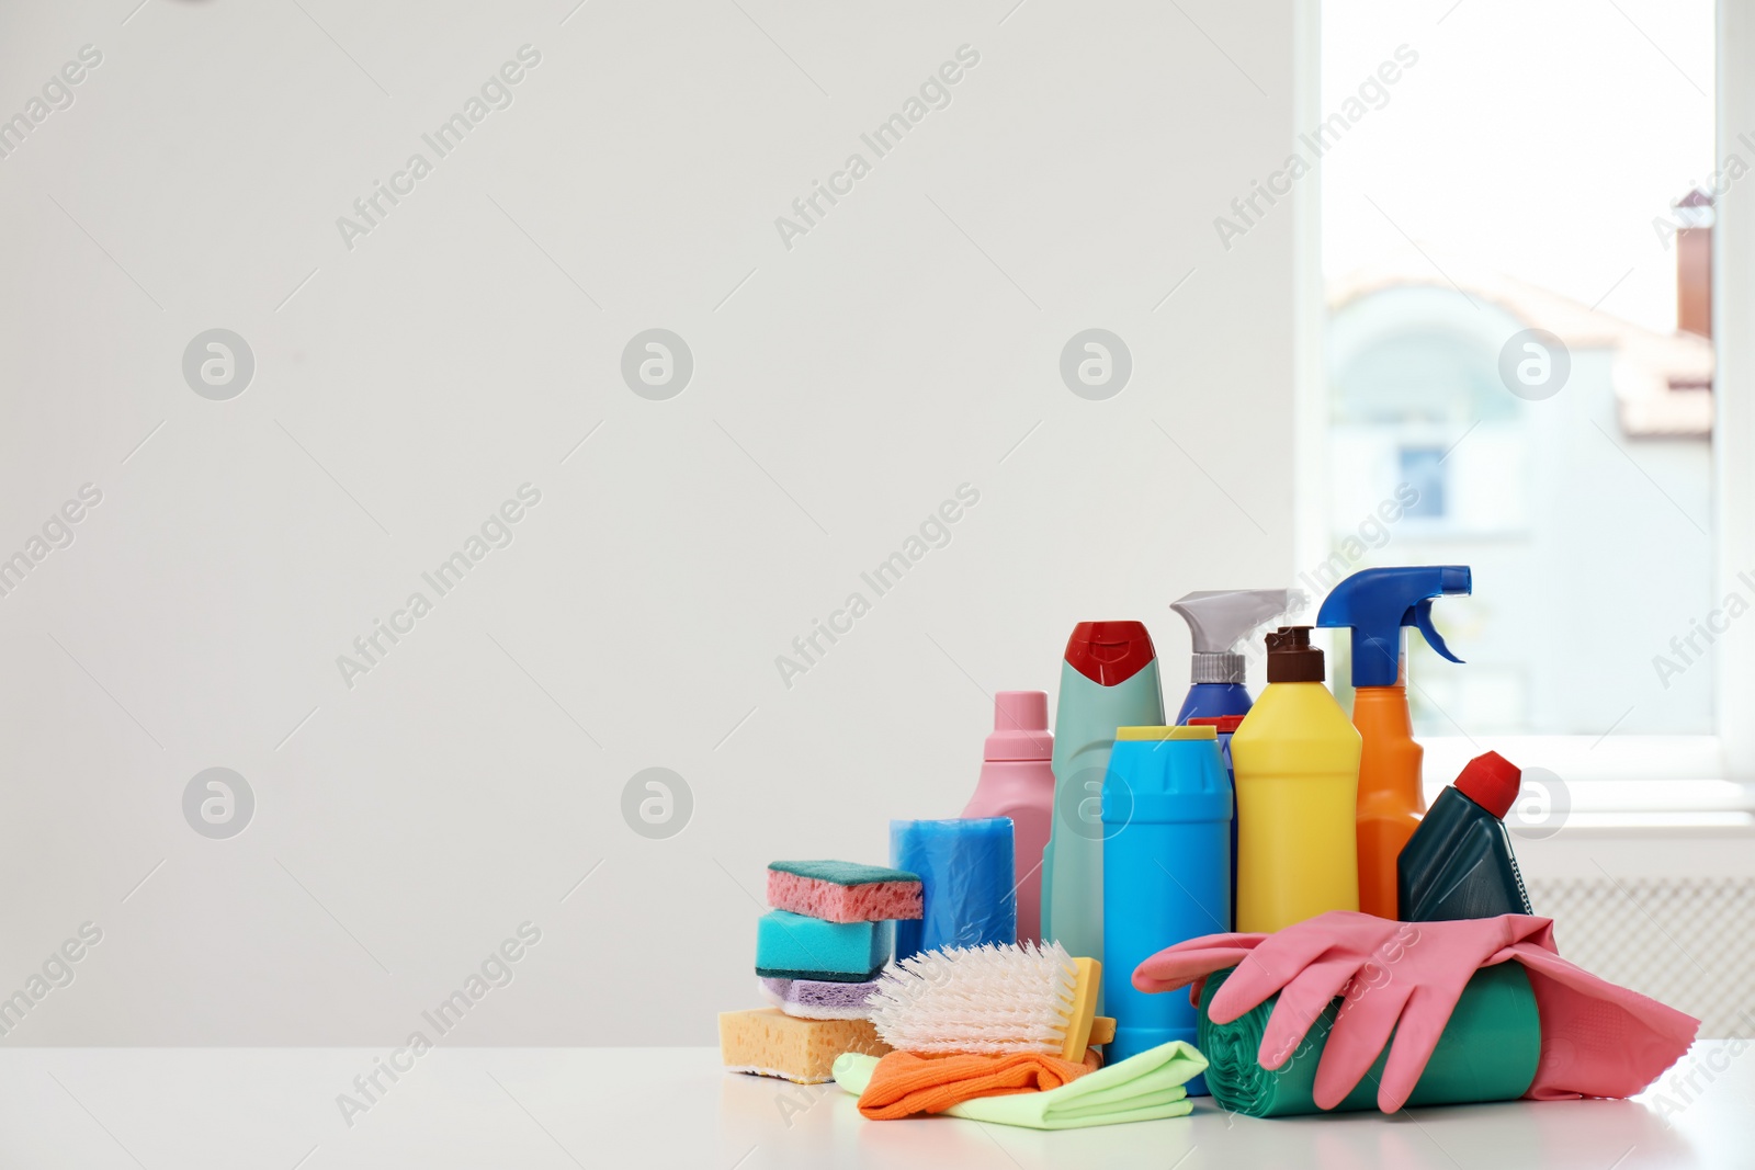
{"label": "white perforated radiator screen below the window sill at right", "polygon": [[1755,877],[1534,879],[1560,954],[1701,1017],[1702,1037],[1755,1026]]}

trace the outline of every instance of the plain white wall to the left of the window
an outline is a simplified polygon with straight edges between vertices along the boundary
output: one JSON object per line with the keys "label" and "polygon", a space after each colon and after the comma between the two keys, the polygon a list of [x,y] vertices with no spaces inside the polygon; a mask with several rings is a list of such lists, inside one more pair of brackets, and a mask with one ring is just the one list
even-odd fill
{"label": "plain white wall to the left of the window", "polygon": [[[526,921],[448,1042],[711,1042],[769,860],[958,812],[983,691],[1053,688],[1076,621],[1151,621],[1174,702],[1167,602],[1288,577],[1292,209],[1228,251],[1213,218],[1285,156],[1290,4],[300,2],[0,11],[0,116],[102,53],[0,160],[0,556],[102,493],[0,598],[0,995],[102,930],[4,1042],[395,1045]],[[226,402],[181,370],[214,326],[256,363]],[[653,326],[695,361],[667,402],[618,368]],[[1109,402],[1058,375],[1093,326],[1132,351]],[[951,544],[784,688],[960,484]],[[184,819],[211,767],[254,793],[226,840]],[[693,793],[667,840],[623,821],[648,767]]]}

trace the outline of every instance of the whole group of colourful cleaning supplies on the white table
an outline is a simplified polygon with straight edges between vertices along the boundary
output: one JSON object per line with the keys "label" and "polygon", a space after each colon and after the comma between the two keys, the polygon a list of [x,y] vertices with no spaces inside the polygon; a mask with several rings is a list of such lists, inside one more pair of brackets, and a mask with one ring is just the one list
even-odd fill
{"label": "whole group of colourful cleaning supplies on the white table", "polygon": [[1460,661],[1432,603],[1471,589],[1465,565],[1334,589],[1316,624],[1351,630],[1351,719],[1311,626],[1267,635],[1250,700],[1236,647],[1292,591],[1172,605],[1178,726],[1144,624],[1079,623],[1053,735],[1042,691],[1000,691],[963,817],[892,821],[893,868],[769,868],[772,1007],[720,1016],[727,1067],[832,1075],[869,1119],[1041,1130],[1209,1089],[1260,1117],[1637,1093],[1699,1021],[1558,956],[1504,826],[1518,768],[1478,756],[1422,819],[1406,630]]}

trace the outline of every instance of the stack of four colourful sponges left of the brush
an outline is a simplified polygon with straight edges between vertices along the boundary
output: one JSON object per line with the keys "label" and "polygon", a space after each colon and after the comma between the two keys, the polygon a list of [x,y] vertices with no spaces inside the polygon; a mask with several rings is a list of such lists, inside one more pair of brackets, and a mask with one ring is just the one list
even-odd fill
{"label": "stack of four colourful sponges left of the brush", "polygon": [[851,861],[776,861],[767,900],[756,975],[776,1007],[720,1012],[725,1067],[820,1084],[842,1052],[888,1052],[865,996],[890,961],[895,921],[921,914],[920,879]]}

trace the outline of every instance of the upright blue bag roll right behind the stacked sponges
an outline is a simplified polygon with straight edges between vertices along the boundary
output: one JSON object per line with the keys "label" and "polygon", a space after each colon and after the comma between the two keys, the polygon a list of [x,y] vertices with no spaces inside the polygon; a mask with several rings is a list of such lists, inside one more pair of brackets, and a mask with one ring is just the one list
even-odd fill
{"label": "upright blue bag roll right behind the stacked sponges", "polygon": [[921,912],[902,919],[895,954],[1018,938],[1011,821],[890,821],[890,863],[920,874]]}

